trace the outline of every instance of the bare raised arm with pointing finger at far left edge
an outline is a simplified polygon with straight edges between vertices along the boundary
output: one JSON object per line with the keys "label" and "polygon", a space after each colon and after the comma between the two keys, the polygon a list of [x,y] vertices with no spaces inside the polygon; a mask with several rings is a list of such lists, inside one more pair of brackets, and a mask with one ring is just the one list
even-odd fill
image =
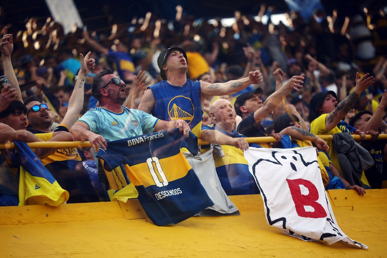
{"label": "bare raised arm with pointing finger at far left edge", "polygon": [[23,102],[22,92],[20,90],[19,83],[14,72],[14,67],[12,66],[11,62],[11,54],[14,50],[14,40],[12,38],[12,34],[8,34],[7,27],[4,28],[3,38],[0,41],[0,50],[3,58],[4,75],[7,76],[7,79],[12,88],[14,88],[15,92],[17,92],[16,99]]}

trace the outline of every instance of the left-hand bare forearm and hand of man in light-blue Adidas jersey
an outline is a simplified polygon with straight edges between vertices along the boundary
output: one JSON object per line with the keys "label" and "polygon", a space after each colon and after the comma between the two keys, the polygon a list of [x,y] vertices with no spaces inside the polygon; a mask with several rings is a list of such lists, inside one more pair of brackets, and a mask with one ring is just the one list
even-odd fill
{"label": "left-hand bare forearm and hand of man in light-blue Adidas jersey", "polygon": [[97,147],[101,146],[104,150],[108,146],[106,140],[99,134],[89,131],[89,128],[84,122],[77,121],[71,127],[70,133],[74,136],[75,141],[90,141],[94,152],[97,152]]}

